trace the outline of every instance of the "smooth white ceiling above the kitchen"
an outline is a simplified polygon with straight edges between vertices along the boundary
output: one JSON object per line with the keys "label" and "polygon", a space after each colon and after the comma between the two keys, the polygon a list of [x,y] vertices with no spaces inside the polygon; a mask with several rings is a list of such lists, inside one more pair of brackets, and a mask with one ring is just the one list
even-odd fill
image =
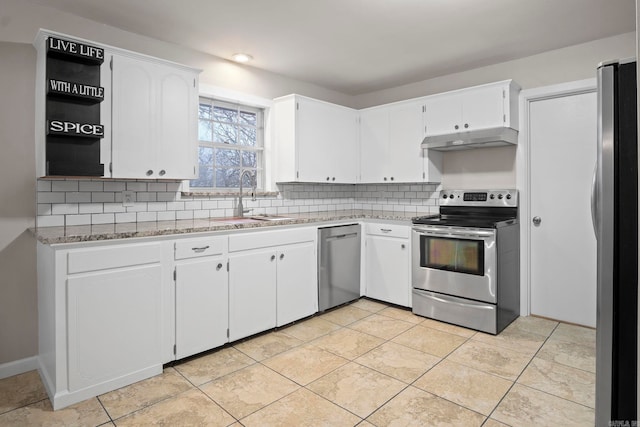
{"label": "smooth white ceiling above the kitchen", "polygon": [[635,30],[634,0],[29,1],[350,95]]}

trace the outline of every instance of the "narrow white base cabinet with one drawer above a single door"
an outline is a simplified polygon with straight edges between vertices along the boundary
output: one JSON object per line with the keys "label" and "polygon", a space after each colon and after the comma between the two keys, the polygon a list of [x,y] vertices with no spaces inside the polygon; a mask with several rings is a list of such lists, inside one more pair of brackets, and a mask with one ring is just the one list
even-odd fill
{"label": "narrow white base cabinet with one drawer above a single door", "polygon": [[175,358],[182,359],[228,341],[227,236],[174,243]]}

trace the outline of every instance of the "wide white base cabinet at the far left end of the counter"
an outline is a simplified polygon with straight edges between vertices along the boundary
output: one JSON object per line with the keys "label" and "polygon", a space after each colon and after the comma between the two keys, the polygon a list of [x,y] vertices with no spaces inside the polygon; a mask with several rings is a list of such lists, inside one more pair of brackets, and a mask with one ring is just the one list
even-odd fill
{"label": "wide white base cabinet at the far left end of the counter", "polygon": [[54,409],[162,372],[167,261],[157,242],[38,244],[38,362]]}

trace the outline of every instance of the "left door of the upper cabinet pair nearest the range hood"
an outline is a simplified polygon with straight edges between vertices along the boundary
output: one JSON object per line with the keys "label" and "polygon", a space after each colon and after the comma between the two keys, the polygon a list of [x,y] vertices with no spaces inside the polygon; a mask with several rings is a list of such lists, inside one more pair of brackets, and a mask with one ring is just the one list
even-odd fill
{"label": "left door of the upper cabinet pair nearest the range hood", "polygon": [[383,182],[387,177],[389,109],[360,112],[360,182]]}

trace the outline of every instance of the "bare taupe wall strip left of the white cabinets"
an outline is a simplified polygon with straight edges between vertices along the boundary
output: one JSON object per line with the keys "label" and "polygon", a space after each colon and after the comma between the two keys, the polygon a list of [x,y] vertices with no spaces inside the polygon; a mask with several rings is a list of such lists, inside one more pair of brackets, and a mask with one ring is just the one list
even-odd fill
{"label": "bare taupe wall strip left of the white cabinets", "polygon": [[33,49],[0,42],[0,364],[37,353]]}

